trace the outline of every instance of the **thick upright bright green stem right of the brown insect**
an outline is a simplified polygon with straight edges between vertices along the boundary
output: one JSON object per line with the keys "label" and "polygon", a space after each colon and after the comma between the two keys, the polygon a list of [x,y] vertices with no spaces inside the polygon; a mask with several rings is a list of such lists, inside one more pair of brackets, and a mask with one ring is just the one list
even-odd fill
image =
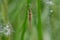
{"label": "thick upright bright green stem right of the brown insect", "polygon": [[38,3],[38,25],[37,25],[37,31],[38,31],[38,40],[43,40],[42,37],[42,24],[41,24],[41,0],[37,0]]}

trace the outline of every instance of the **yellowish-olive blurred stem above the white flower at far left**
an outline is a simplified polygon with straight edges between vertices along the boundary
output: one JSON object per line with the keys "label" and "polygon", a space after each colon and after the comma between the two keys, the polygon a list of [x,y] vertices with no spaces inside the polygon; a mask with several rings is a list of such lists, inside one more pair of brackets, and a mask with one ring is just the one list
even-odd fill
{"label": "yellowish-olive blurred stem above the white flower at far left", "polygon": [[8,0],[2,0],[2,20],[5,24],[8,23]]}

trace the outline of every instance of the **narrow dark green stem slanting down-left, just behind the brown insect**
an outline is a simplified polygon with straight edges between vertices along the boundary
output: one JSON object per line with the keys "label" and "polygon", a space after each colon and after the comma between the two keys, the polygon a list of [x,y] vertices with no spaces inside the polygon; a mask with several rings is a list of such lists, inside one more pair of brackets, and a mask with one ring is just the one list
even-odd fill
{"label": "narrow dark green stem slanting down-left, just behind the brown insect", "polygon": [[24,23],[23,23],[23,31],[22,31],[22,35],[21,35],[21,40],[24,40],[24,34],[25,34],[25,31],[26,31],[26,23],[27,23],[27,19],[28,19],[28,9],[29,9],[29,4],[28,4],[28,0],[27,0],[27,9],[26,9],[26,15],[25,15],[25,20],[24,20]]}

